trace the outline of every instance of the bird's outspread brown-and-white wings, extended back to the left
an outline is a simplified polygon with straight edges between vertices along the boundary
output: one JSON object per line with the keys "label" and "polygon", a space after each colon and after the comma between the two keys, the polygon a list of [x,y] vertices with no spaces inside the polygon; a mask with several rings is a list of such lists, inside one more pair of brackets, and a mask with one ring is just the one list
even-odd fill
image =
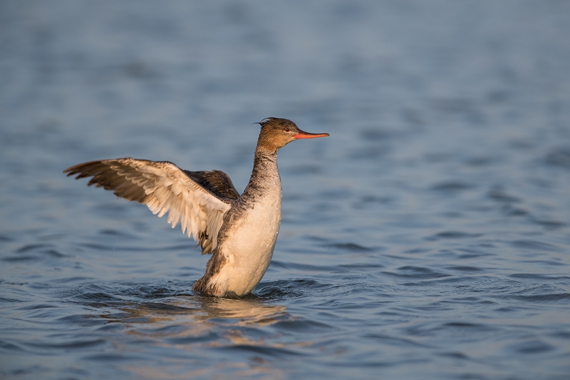
{"label": "bird's outspread brown-and-white wings, extended back to the left", "polygon": [[[88,185],[113,190],[118,197],[143,203],[159,217],[168,212],[168,222],[172,228],[180,222],[182,232],[186,232],[188,237],[193,235],[199,242],[202,255],[211,253],[217,247],[224,214],[231,207],[229,202],[239,197],[239,194],[234,197],[237,190],[225,173],[185,173],[167,161],[135,158],[91,161],[67,168],[63,173],[77,174],[76,179],[93,177]],[[201,174],[194,175],[195,179],[190,173]],[[216,184],[219,182],[229,185],[233,191],[228,186],[217,190]]]}

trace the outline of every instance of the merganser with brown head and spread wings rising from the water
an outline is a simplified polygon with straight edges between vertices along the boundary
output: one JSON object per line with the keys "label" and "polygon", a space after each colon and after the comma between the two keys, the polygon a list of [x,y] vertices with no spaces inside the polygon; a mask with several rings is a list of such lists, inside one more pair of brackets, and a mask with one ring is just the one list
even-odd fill
{"label": "merganser with brown head and spread wings rising from the water", "polygon": [[279,148],[301,138],[326,137],[307,133],[291,120],[266,118],[261,123],[254,169],[239,195],[229,176],[219,170],[191,172],[167,161],[117,158],[72,166],[63,173],[93,177],[88,185],[113,190],[126,200],[148,206],[174,228],[192,235],[211,253],[206,273],[195,282],[196,292],[216,297],[243,296],[264,276],[281,225]]}

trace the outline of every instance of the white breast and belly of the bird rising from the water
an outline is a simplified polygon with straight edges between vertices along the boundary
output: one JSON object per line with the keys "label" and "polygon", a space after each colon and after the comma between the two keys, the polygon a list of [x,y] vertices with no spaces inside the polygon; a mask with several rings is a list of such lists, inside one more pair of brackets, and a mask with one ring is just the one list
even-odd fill
{"label": "white breast and belly of the bird rising from the water", "polygon": [[243,295],[265,274],[281,225],[281,186],[265,194],[228,231],[220,250],[226,263],[211,279],[219,289]]}

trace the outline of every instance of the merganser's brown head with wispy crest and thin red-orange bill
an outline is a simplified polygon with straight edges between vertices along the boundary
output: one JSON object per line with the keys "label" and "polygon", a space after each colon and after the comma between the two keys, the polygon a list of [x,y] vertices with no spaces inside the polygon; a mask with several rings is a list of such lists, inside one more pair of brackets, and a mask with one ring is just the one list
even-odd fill
{"label": "merganser's brown head with wispy crest and thin red-orange bill", "polygon": [[295,123],[287,119],[266,118],[258,123],[261,133],[257,140],[257,150],[267,150],[276,153],[279,148],[300,138],[326,137],[328,133],[308,133],[300,130]]}

